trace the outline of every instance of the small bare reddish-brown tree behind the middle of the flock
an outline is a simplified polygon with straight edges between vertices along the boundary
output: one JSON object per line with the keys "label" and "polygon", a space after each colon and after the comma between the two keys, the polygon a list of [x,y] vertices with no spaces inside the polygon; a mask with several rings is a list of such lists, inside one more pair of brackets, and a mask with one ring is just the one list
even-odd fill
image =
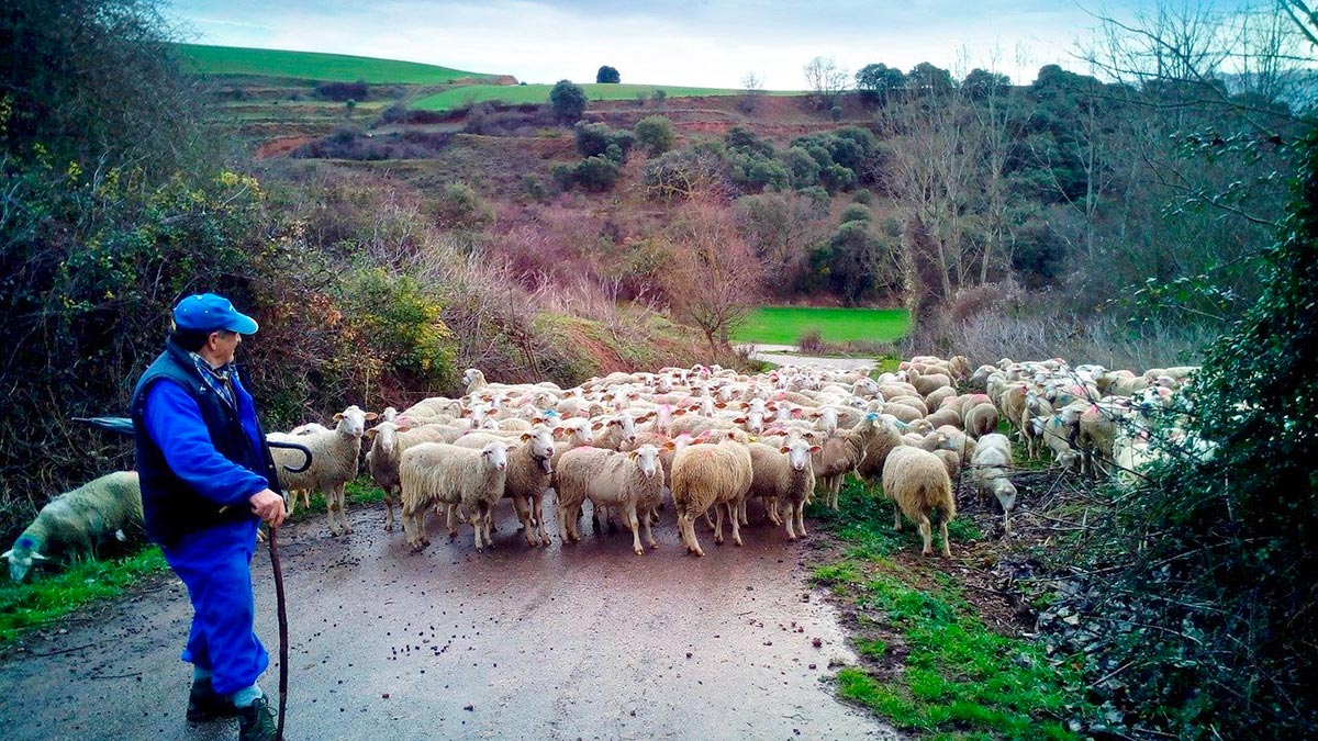
{"label": "small bare reddish-brown tree behind the middle of the flock", "polygon": [[670,228],[664,289],[673,314],[700,327],[710,349],[726,347],[759,298],[764,269],[737,233],[728,208],[687,204]]}

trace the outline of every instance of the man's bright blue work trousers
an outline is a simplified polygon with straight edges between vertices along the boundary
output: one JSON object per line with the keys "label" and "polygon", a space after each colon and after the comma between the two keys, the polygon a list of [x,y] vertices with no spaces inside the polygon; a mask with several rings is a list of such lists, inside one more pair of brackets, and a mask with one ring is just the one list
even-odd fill
{"label": "man's bright blue work trousers", "polygon": [[161,548],[192,600],[192,629],[182,658],[210,670],[220,695],[256,684],[270,665],[253,630],[252,554],[258,525],[254,518],[220,525]]}

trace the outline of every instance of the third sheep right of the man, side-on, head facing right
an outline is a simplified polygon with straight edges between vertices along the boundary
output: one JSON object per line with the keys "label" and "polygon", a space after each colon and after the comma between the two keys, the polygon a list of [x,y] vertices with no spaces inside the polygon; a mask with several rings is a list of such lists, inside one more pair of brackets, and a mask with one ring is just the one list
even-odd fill
{"label": "third sheep right of the man, side-on, head facing right", "polygon": [[448,537],[457,535],[453,516],[461,510],[476,530],[476,552],[484,550],[489,539],[488,517],[503,498],[507,450],[503,440],[492,440],[481,450],[422,443],[403,454],[398,476],[402,481],[403,530],[413,552],[430,545],[426,509],[431,505],[456,505],[448,508]]}

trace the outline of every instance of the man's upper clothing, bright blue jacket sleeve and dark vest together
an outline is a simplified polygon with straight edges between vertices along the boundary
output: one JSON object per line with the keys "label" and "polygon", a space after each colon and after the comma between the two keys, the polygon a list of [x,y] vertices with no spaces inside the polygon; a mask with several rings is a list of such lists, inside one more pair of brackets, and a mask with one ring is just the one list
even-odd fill
{"label": "man's upper clothing, bright blue jacket sleeve and dark vest together", "polygon": [[232,384],[237,409],[173,341],[137,381],[132,414],[142,514],[146,534],[162,546],[187,533],[256,519],[248,498],[265,488],[279,490],[252,396],[237,373]]}

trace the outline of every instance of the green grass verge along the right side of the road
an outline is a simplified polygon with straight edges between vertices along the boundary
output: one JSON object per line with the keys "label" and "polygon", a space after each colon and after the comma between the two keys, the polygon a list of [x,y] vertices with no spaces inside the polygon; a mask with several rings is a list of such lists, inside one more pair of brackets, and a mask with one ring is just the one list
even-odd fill
{"label": "green grass verge along the right side of the road", "polygon": [[[917,560],[913,525],[892,530],[892,502],[849,483],[840,506],[808,512],[840,546],[822,551],[812,579],[854,610],[858,625],[878,630],[851,639],[861,665],[838,671],[841,697],[917,738],[1078,738],[1066,724],[1090,711],[1078,671],[1050,662],[1037,643],[991,630],[965,599],[956,562]],[[969,518],[949,530],[953,554],[958,542],[982,538]]]}

